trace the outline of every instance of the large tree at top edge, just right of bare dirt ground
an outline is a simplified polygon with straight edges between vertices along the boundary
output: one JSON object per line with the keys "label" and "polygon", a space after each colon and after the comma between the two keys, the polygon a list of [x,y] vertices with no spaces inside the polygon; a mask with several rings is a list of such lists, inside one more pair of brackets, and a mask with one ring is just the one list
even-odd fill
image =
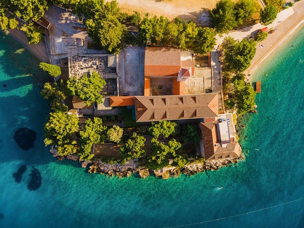
{"label": "large tree at top edge, just right of bare dirt ground", "polygon": [[220,0],[210,11],[211,23],[219,33],[226,33],[237,26],[235,7],[232,0]]}

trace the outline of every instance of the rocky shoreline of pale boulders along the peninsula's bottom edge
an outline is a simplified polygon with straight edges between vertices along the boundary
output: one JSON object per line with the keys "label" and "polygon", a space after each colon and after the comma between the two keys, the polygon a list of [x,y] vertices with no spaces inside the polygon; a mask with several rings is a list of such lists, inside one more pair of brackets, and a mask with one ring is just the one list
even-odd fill
{"label": "rocky shoreline of pale boulders along the peninsula's bottom edge", "polygon": [[[53,157],[57,157],[58,161],[68,159],[72,161],[78,161],[78,157],[74,155],[68,156],[59,156],[55,149],[51,149],[50,152],[53,154]],[[117,176],[119,178],[131,177],[134,174],[140,178],[146,178],[149,176],[155,176],[156,178],[169,179],[171,177],[179,177],[182,173],[185,175],[195,175],[206,170],[215,171],[221,167],[229,166],[233,163],[238,163],[244,158],[234,158],[234,159],[224,159],[217,161],[207,161],[207,162],[198,162],[193,161],[190,164],[185,165],[183,168],[178,167],[164,167],[161,170],[151,170],[145,166],[129,166],[122,164],[109,164],[102,163],[101,161],[84,161],[80,162],[83,168],[88,167],[89,173],[100,173],[105,174],[110,177]]]}

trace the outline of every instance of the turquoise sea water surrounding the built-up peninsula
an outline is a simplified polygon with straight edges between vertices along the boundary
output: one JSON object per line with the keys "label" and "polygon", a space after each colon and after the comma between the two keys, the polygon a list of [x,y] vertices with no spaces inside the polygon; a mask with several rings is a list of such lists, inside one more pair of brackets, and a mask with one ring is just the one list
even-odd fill
{"label": "turquoise sea water surrounding the built-up peninsula", "polygon": [[[47,76],[39,60],[0,33],[0,227],[304,227],[303,60],[299,29],[254,72],[262,93],[258,114],[241,123],[243,162],[191,177],[118,179],[55,161],[43,144]],[[14,140],[24,127],[37,135],[29,150]],[[17,183],[21,165],[27,170]],[[33,166],[42,184],[30,191]]]}

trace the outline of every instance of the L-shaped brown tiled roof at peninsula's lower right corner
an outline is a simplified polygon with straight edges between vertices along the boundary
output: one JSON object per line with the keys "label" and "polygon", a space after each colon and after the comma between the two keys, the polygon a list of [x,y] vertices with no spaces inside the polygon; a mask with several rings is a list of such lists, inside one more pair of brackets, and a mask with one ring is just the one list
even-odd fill
{"label": "L-shaped brown tiled roof at peninsula's lower right corner", "polygon": [[216,124],[201,123],[203,147],[206,160],[217,160],[227,158],[238,158],[240,156],[240,146],[236,141],[221,147],[217,142]]}

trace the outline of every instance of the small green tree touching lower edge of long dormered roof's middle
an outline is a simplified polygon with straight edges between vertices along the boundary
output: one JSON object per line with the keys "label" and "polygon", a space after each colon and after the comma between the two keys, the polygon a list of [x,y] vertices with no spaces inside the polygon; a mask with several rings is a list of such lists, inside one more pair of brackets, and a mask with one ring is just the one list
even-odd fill
{"label": "small green tree touching lower edge of long dormered roof's middle", "polygon": [[149,133],[154,137],[158,138],[160,134],[168,138],[170,134],[175,133],[175,122],[171,121],[159,121],[158,123],[152,122],[152,126],[148,129]]}

